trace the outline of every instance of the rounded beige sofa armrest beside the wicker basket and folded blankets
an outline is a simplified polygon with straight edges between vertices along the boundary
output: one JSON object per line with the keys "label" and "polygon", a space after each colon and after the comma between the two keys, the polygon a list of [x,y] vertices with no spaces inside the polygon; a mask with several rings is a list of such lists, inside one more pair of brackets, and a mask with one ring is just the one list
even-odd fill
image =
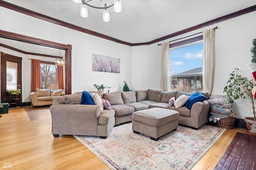
{"label": "rounded beige sofa armrest beside the wicker basket and folded blankets", "polygon": [[190,126],[198,128],[208,122],[210,104],[208,100],[196,102],[190,113]]}

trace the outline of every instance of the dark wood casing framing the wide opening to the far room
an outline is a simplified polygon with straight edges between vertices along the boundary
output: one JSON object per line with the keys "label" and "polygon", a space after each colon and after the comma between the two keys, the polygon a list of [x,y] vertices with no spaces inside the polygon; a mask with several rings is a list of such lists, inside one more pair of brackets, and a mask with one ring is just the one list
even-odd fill
{"label": "dark wood casing framing the wide opening to the far room", "polygon": [[[1,1],[2,2],[2,1]],[[31,43],[31,44],[36,44],[36,45],[43,45],[46,47],[53,47],[56,49],[62,49],[62,50],[66,50],[65,53],[65,80],[66,80],[66,84],[65,84],[65,94],[71,94],[71,51],[72,51],[72,45],[65,45],[65,44],[60,44],[60,43],[56,43],[56,42],[52,42],[52,41],[47,41],[44,39],[38,39],[38,38],[34,38],[34,37],[29,37],[26,35],[20,35],[17,33],[11,33],[8,31],[3,31],[0,30],[0,37],[4,37],[7,39],[14,39],[17,41],[21,41],[21,42],[26,42],[26,43]]]}

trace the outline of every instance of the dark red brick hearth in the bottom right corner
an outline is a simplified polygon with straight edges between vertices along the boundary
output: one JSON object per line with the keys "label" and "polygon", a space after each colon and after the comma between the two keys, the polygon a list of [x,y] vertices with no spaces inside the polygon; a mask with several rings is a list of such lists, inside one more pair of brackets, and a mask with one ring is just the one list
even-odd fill
{"label": "dark red brick hearth in the bottom right corner", "polygon": [[215,170],[256,170],[256,136],[236,133]]}

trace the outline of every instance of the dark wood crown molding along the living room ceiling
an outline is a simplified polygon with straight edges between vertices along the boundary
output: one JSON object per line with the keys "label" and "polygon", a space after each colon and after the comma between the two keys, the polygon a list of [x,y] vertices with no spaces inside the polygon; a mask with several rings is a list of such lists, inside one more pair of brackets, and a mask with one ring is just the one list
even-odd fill
{"label": "dark wood crown molding along the living room ceiling", "polygon": [[235,18],[235,17],[241,16],[241,15],[244,15],[244,14],[256,11],[256,5],[254,5],[254,6],[250,6],[248,8],[245,8],[243,10],[239,10],[237,12],[233,12],[231,14],[228,14],[228,15],[216,18],[214,20],[210,20],[210,21],[201,23],[199,25],[195,25],[193,27],[190,27],[190,28],[187,28],[187,29],[183,29],[183,30],[178,31],[176,33],[172,33],[172,34],[166,35],[164,37],[160,37],[158,39],[154,39],[154,40],[149,41],[149,42],[144,42],[144,43],[128,43],[126,41],[122,41],[122,40],[119,40],[119,39],[116,39],[116,38],[113,38],[113,37],[110,37],[110,36],[107,36],[107,35],[104,35],[104,34],[101,34],[101,33],[98,33],[98,32],[92,31],[92,30],[89,30],[89,29],[78,27],[76,25],[73,25],[73,24],[70,24],[70,23],[66,23],[64,21],[57,20],[55,18],[51,18],[49,16],[45,16],[45,15],[40,14],[38,12],[34,12],[34,11],[28,10],[26,8],[22,8],[20,6],[11,4],[9,2],[5,2],[3,0],[0,0],[0,6],[2,6],[4,8],[8,8],[10,10],[14,10],[16,12],[20,12],[22,14],[26,14],[26,15],[29,15],[29,16],[41,19],[41,20],[45,20],[45,21],[48,21],[48,22],[51,22],[51,23],[55,23],[55,24],[61,25],[63,27],[68,27],[68,28],[74,29],[76,31],[80,31],[80,32],[83,32],[83,33],[94,35],[96,37],[100,37],[100,38],[103,38],[103,39],[108,39],[110,41],[114,41],[116,43],[121,43],[121,44],[129,45],[129,46],[150,45],[150,44],[153,44],[153,43],[158,43],[160,41],[163,41],[163,40],[166,40],[166,39],[170,39],[172,37],[176,37],[178,35],[182,35],[184,33],[190,32],[190,31],[194,31],[196,29],[200,29],[200,28],[203,28],[203,27],[206,27],[206,26],[209,26],[209,25],[213,25],[213,24],[225,21],[225,20],[229,20],[231,18]]}

